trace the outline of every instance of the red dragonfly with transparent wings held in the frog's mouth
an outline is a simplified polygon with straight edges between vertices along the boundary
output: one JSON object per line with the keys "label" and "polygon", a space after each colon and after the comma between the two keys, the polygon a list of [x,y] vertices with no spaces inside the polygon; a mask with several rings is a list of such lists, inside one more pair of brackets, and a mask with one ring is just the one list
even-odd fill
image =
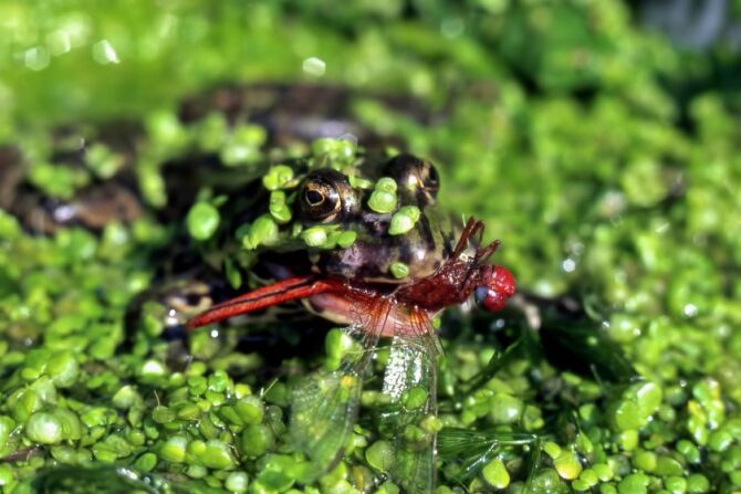
{"label": "red dragonfly with transparent wings held in the frog's mouth", "polygon": [[310,460],[304,482],[314,481],[342,459],[369,362],[379,338],[390,338],[382,385],[392,411],[382,424],[390,458],[383,470],[406,492],[428,493],[435,486],[436,433],[435,421],[428,419],[436,416],[440,348],[431,319],[471,294],[487,311],[500,311],[515,290],[512,274],[489,263],[500,242],[481,246],[483,222],[469,219],[437,272],[390,293],[354,280],[289,277],[215,305],[190,319],[187,327],[195,329],[296,299],[309,302],[320,315],[326,311],[343,316],[348,326],[338,334],[341,353],[331,355],[331,365],[311,376],[292,397],[292,442]]}

